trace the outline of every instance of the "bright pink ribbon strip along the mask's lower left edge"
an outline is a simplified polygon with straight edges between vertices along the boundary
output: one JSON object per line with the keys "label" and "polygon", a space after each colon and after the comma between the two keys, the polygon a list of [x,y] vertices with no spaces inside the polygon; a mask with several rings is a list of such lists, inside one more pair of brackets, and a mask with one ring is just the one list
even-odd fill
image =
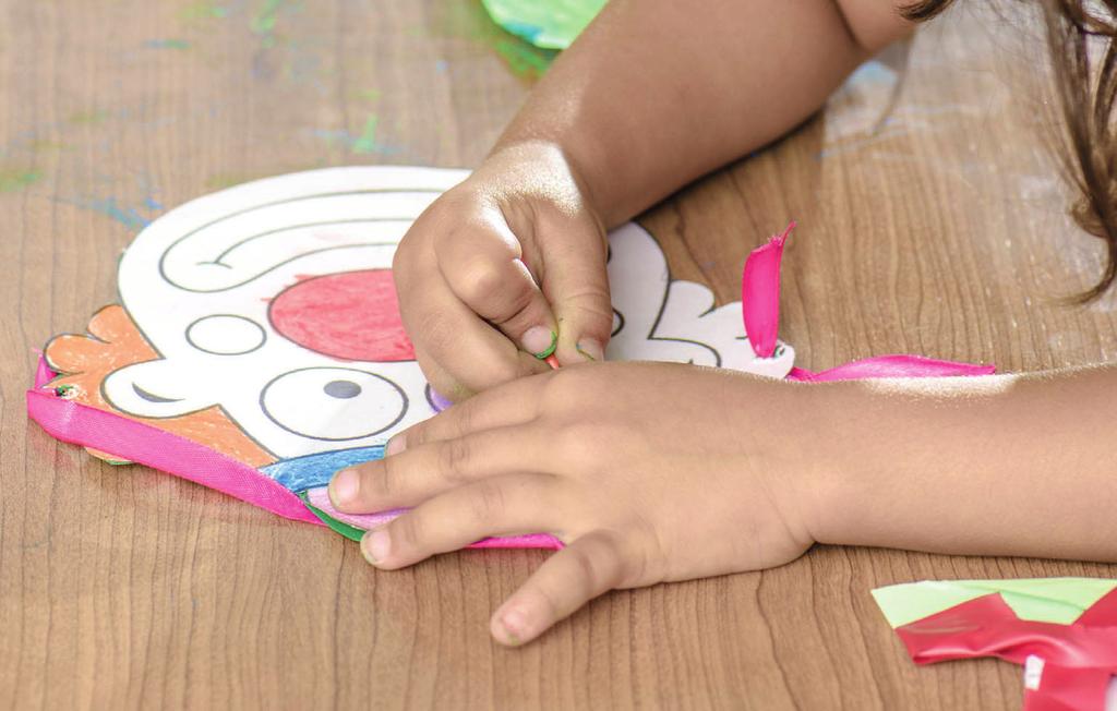
{"label": "bright pink ribbon strip along the mask's lower left edge", "polygon": [[54,377],[40,357],[35,388],[27,391],[27,413],[55,439],[104,450],[284,518],[324,526],[297,496],[255,468],[176,434],[41,390]]}

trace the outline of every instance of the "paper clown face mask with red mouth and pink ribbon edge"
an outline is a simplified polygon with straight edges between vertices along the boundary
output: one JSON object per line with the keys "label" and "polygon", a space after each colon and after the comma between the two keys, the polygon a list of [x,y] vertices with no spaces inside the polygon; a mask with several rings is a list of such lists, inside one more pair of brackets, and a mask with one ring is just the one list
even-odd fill
{"label": "paper clown face mask with red mouth and pink ribbon edge", "polygon": [[[121,304],[95,314],[88,335],[47,345],[31,417],[111,461],[318,522],[298,493],[381,457],[392,434],[446,404],[414,361],[391,263],[412,221],[466,175],[327,169],[172,210],[121,259]],[[608,358],[791,371],[784,344],[753,353],[739,302],[714,308],[706,287],[672,280],[639,225],[609,240]]]}

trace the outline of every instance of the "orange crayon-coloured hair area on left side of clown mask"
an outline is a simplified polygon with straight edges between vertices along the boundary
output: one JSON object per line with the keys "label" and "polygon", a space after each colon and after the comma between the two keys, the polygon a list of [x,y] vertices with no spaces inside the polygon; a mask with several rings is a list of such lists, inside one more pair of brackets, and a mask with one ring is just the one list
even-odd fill
{"label": "orange crayon-coloured hair area on left side of clown mask", "polygon": [[[206,444],[251,467],[259,468],[276,461],[220,407],[207,407],[179,417],[156,420],[121,413],[108,404],[101,393],[101,384],[111,373],[159,357],[136,328],[132,317],[120,305],[106,306],[94,314],[89,319],[88,335],[61,334],[51,338],[44,356],[47,365],[59,373],[59,377],[51,381],[51,386],[74,385],[77,387],[73,397],[75,402],[124,414],[137,422]],[[115,459],[104,452],[89,451],[102,459]]]}

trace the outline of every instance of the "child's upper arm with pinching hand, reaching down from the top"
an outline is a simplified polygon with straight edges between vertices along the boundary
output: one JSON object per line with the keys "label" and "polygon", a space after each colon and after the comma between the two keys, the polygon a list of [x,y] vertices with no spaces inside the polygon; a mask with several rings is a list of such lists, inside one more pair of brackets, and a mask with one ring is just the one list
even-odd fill
{"label": "child's upper arm with pinching hand, reaching down from the top", "polygon": [[461,400],[600,359],[604,229],[772,141],[909,23],[889,0],[613,0],[397,252],[400,310]]}

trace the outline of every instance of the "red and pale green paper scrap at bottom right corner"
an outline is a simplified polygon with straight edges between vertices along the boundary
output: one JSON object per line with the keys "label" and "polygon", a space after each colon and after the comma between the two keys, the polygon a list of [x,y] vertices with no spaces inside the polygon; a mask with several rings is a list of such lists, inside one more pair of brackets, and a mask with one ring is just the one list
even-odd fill
{"label": "red and pale green paper scrap at bottom right corner", "polygon": [[924,580],[872,596],[916,664],[1000,657],[1024,665],[1025,711],[1117,709],[1117,580]]}

